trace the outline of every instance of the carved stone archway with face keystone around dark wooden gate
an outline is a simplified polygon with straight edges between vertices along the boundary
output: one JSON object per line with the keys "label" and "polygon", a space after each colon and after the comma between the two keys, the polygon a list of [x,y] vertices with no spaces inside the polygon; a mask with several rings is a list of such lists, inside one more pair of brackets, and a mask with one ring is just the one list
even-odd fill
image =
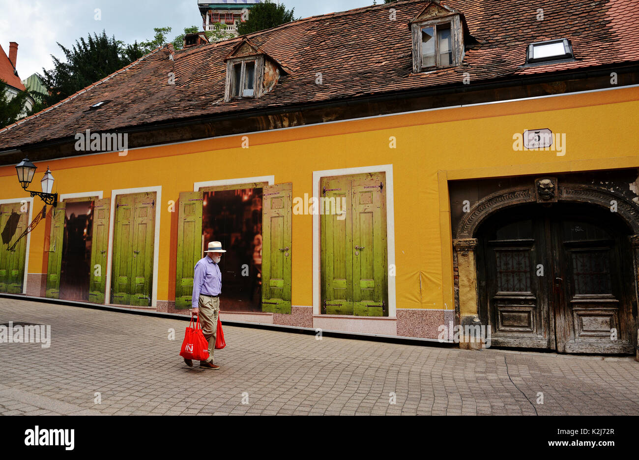
{"label": "carved stone archway with face keystone around dark wooden gate", "polygon": [[[475,237],[477,229],[498,210],[524,203],[590,203],[611,212],[617,212],[631,228],[633,248],[635,302],[639,299],[639,205],[625,196],[604,187],[590,184],[558,184],[555,177],[542,177],[528,187],[504,189],[482,198],[459,221],[453,239],[454,259],[458,269],[458,321],[461,326],[477,326],[479,322],[479,294],[477,289],[477,262]],[[636,329],[635,325],[635,329]],[[481,343],[466,342],[460,347],[479,349]]]}

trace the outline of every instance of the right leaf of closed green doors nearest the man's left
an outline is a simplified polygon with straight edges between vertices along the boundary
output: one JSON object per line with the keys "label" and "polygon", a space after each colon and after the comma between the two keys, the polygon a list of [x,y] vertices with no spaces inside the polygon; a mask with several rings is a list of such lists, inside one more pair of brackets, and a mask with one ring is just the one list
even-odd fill
{"label": "right leaf of closed green doors nearest the man's left", "polygon": [[135,197],[130,305],[151,306],[156,205],[155,192]]}

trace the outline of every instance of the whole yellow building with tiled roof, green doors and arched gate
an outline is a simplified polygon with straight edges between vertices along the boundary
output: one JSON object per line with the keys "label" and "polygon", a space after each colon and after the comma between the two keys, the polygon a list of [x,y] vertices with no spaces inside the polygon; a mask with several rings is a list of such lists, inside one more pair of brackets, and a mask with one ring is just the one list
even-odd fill
{"label": "whole yellow building with tiled roof, green doors and arched gate", "polygon": [[25,156],[60,193],[35,244],[1,246],[0,287],[186,313],[221,241],[226,321],[633,353],[639,4],[544,4],[397,1],[167,46],[0,130],[6,212],[42,206]]}

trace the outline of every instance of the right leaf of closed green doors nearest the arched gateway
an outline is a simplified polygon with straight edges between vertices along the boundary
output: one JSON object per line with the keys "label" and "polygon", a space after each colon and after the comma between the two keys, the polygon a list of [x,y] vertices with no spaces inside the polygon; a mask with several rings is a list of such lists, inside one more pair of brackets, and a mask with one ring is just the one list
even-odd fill
{"label": "right leaf of closed green doors nearest the arched gateway", "polygon": [[381,173],[351,182],[353,205],[353,314],[387,316],[386,196]]}

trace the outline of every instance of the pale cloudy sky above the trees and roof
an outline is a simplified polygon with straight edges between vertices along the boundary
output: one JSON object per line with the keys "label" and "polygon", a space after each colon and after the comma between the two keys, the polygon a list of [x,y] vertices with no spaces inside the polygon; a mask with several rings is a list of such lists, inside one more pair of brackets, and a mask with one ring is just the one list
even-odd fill
{"label": "pale cloudy sky above the trees and roof", "polygon": [[[378,1],[378,3],[382,3]],[[350,10],[373,0],[284,0],[295,17]],[[100,9],[102,19],[95,19]],[[170,40],[185,27],[200,26],[197,0],[0,0],[0,45],[9,54],[9,42],[17,42],[17,69],[21,79],[42,67],[53,67],[50,54],[61,58],[56,42],[71,47],[89,33],[115,35],[133,43],[153,38],[154,27],[173,28]]]}

